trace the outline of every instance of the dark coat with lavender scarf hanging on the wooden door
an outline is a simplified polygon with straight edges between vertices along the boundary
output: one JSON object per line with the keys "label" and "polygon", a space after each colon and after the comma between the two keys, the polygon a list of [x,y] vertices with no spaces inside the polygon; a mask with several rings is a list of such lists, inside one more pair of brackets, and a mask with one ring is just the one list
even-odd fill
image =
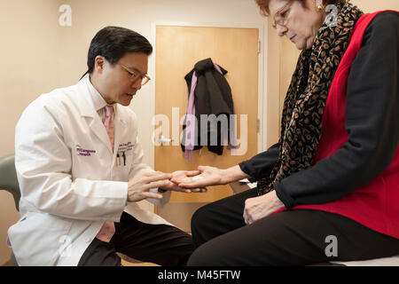
{"label": "dark coat with lavender scarf hanging on the wooden door", "polygon": [[[195,144],[192,146],[192,150],[198,150],[202,148],[202,146],[207,145],[209,151],[215,154],[223,154],[223,141],[227,139],[229,144],[231,143],[231,136],[229,134],[231,131],[234,131],[235,125],[232,125],[233,123],[231,123],[230,115],[234,114],[234,104],[231,97],[231,87],[224,78],[225,74],[227,74],[227,71],[223,67],[214,64],[212,59],[204,59],[197,62],[192,71],[184,76],[189,92],[187,114],[192,112],[195,113],[196,117],[196,123],[194,123],[195,135],[194,138],[192,138]],[[194,92],[191,111],[190,94],[192,89]],[[220,119],[223,119],[220,115],[226,115],[228,130],[222,130],[221,127],[223,125],[221,125],[220,122],[218,122],[215,127],[215,123],[210,123],[205,120],[201,121],[201,114],[206,114],[207,117],[210,117],[211,114],[215,114],[215,117]],[[190,146],[186,147],[185,143],[187,127],[193,127],[190,125],[191,123],[188,122],[186,117],[183,125],[183,139],[181,145],[183,151],[186,152],[186,159],[192,158]],[[206,138],[204,138],[204,136],[206,136]],[[232,137],[235,137],[235,135],[233,134]],[[216,143],[215,138],[217,138]],[[204,143],[204,141],[206,141],[206,143]]]}

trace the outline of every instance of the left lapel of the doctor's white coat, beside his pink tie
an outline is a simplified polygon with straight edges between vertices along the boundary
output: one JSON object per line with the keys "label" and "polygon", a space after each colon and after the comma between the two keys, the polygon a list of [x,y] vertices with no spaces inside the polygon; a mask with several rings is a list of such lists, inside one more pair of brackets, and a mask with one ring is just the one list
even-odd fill
{"label": "left lapel of the doctor's white coat, beside his pink tie", "polygon": [[81,99],[81,101],[77,104],[80,108],[82,117],[85,117],[86,121],[88,122],[90,132],[93,132],[106,145],[106,148],[110,151],[110,153],[112,153],[113,150],[111,148],[108,134],[106,133],[106,127],[104,126],[96,109],[93,106],[92,99],[90,98],[90,92],[84,78],[79,81],[77,87],[79,89],[79,93],[82,94],[82,97],[84,98]]}

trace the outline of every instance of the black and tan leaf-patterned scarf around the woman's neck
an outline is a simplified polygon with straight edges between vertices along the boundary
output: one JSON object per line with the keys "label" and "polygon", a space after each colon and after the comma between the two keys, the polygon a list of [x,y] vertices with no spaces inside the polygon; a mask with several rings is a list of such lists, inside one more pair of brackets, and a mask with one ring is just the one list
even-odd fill
{"label": "black and tan leaf-patterned scarf around the woman's neck", "polygon": [[323,112],[332,78],[345,53],[356,21],[362,16],[350,3],[336,4],[337,25],[324,23],[310,50],[301,52],[284,102],[278,161],[269,177],[258,180],[258,194],[274,183],[308,169],[321,136]]}

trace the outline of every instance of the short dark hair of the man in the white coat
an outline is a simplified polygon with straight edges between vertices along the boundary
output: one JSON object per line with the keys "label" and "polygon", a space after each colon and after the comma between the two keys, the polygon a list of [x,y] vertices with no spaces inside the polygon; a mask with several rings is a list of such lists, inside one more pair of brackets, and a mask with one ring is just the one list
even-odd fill
{"label": "short dark hair of the man in the white coat", "polygon": [[88,71],[84,75],[93,72],[98,55],[104,56],[111,65],[114,65],[127,52],[142,52],[150,56],[153,53],[153,46],[144,36],[129,28],[102,28],[91,40],[87,57]]}

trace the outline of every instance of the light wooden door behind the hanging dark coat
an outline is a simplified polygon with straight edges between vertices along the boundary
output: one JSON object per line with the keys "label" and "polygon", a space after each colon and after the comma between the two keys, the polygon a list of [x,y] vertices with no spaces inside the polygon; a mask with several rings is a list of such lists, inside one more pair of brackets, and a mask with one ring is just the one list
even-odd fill
{"label": "light wooden door behind the hanging dark coat", "polygon": [[[154,131],[154,140],[158,141],[160,135],[173,139],[169,145],[155,146],[155,170],[196,170],[199,165],[225,169],[254,156],[257,153],[258,29],[157,26],[155,53],[155,114],[160,119],[155,122],[158,131]],[[194,151],[192,160],[184,160],[180,147],[181,122],[188,105],[184,76],[195,63],[207,58],[228,71],[225,77],[238,115],[237,135],[243,141],[239,135],[246,132],[246,151],[232,155],[224,146],[223,155],[217,155],[204,146],[201,151]],[[245,119],[240,114],[246,114],[243,129],[240,123]],[[238,152],[243,149],[240,146]],[[207,193],[174,192],[170,202],[172,205],[174,202],[211,202],[229,195],[230,186],[220,185],[209,187]]]}

